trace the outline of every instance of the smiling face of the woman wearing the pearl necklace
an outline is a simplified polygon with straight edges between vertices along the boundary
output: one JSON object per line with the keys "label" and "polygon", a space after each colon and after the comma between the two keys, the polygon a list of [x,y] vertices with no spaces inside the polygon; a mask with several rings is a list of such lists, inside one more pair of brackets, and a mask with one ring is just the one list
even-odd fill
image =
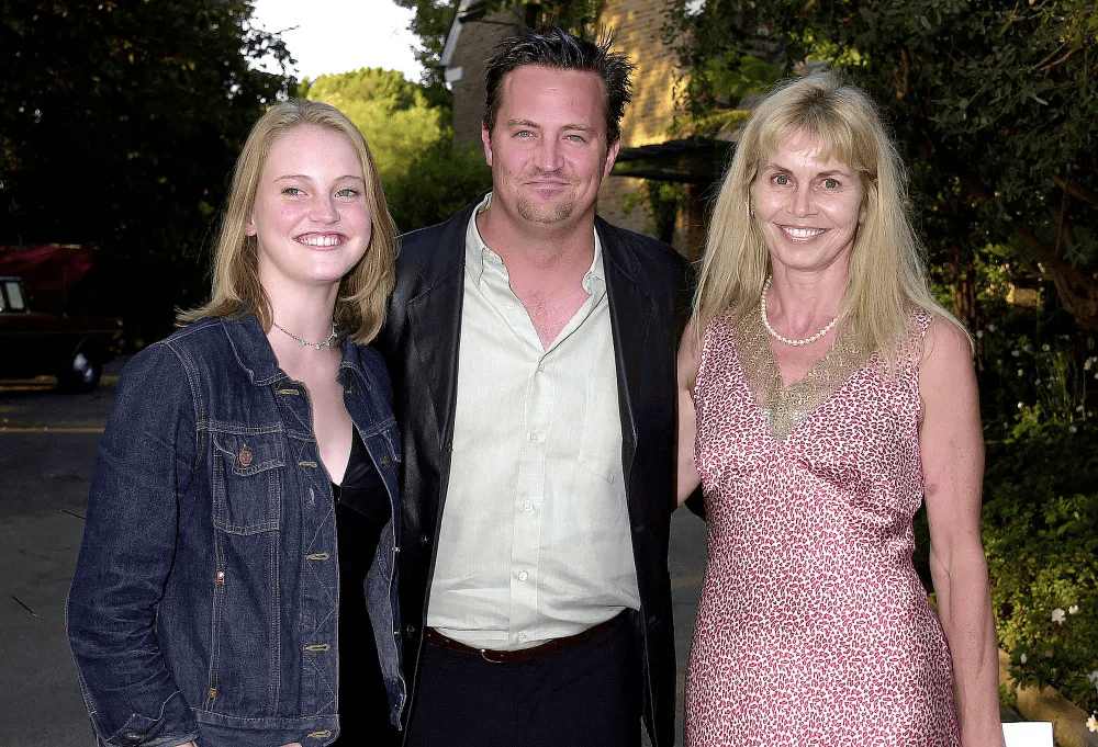
{"label": "smiling face of the woman wearing the pearl necklace", "polygon": [[762,159],[751,184],[758,220],[775,269],[845,271],[865,196],[861,180],[822,139],[798,129]]}

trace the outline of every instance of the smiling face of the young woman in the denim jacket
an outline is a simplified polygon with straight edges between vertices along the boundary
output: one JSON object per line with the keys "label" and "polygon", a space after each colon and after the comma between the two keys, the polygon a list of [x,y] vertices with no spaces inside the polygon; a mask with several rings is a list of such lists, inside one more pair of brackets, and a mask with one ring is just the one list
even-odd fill
{"label": "smiling face of the young woman in the denim jacket", "polygon": [[337,284],[370,245],[358,151],[335,129],[298,125],[271,145],[246,231],[259,242],[259,279],[280,287]]}

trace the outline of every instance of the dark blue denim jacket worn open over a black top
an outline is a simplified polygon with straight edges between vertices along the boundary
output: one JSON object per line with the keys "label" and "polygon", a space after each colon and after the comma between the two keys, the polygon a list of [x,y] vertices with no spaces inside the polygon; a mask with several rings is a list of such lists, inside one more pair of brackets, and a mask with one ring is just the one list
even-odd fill
{"label": "dark blue denim jacket worn open over a black top", "polygon": [[[392,393],[378,353],[349,341],[338,377],[396,517],[366,580],[396,723],[406,692]],[[100,744],[329,744],[338,589],[309,398],[256,318],[203,319],[134,356],[99,446],[66,609]]]}

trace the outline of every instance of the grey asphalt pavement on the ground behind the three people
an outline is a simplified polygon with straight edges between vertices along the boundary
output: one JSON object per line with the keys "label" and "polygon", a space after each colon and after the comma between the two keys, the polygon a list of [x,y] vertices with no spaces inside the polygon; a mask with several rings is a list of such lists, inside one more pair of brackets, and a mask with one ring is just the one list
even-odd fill
{"label": "grey asphalt pavement on the ground behind the three people", "polygon": [[[0,381],[0,747],[94,745],[61,627],[96,449],[121,365],[109,365],[87,395],[56,393],[48,378]],[[670,566],[679,744],[704,565],[704,523],[676,511]]]}

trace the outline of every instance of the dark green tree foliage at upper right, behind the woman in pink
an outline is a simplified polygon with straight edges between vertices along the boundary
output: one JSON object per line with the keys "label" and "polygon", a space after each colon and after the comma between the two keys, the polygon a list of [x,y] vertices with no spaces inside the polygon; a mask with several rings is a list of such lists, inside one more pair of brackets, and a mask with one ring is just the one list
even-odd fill
{"label": "dark green tree foliage at upper right, behind the woman in pink", "polygon": [[885,111],[932,260],[975,319],[988,245],[1098,329],[1098,11],[1089,0],[675,0],[665,27],[696,117],[736,107],[716,68],[827,60]]}

